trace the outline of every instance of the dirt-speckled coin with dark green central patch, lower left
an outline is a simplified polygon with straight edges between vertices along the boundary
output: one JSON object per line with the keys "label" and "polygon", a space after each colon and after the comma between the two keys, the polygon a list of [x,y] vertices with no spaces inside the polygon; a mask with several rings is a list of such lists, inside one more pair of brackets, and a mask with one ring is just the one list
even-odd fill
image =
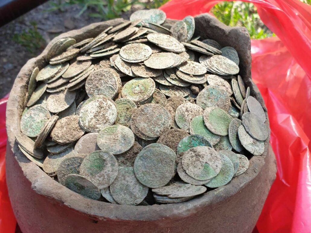
{"label": "dirt-speckled coin with dark green central patch, lower left", "polygon": [[111,185],[117,177],[118,162],[113,154],[97,150],[84,158],[80,174],[91,180],[99,189],[103,189]]}

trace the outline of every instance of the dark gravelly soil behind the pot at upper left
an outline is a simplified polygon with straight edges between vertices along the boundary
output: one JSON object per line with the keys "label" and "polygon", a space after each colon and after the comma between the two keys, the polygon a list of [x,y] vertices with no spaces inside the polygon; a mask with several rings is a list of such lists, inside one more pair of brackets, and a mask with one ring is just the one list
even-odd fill
{"label": "dark gravelly soil behind the pot at upper left", "polygon": [[[9,93],[21,67],[30,58],[39,55],[51,39],[63,32],[100,21],[98,18],[88,16],[92,12],[91,9],[77,17],[81,10],[79,6],[69,6],[63,11],[49,12],[47,11],[50,8],[49,2],[36,7],[0,28],[0,41],[2,42],[0,43],[0,98]],[[124,13],[123,18],[129,18],[130,14],[129,11]],[[14,42],[12,38],[14,34],[20,34],[23,30],[31,27],[30,22],[32,21],[37,23],[38,31],[43,36],[45,45],[30,53],[25,47]]]}

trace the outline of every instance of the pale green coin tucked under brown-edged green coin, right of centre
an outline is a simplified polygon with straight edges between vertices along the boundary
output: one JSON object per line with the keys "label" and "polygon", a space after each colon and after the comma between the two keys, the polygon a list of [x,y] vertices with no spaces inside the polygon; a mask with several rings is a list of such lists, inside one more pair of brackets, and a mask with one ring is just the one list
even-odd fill
{"label": "pale green coin tucked under brown-edged green coin, right of centre", "polygon": [[204,124],[203,116],[196,116],[190,121],[189,125],[190,134],[202,135],[205,137],[211,145],[215,145],[219,142],[220,136],[213,134]]}

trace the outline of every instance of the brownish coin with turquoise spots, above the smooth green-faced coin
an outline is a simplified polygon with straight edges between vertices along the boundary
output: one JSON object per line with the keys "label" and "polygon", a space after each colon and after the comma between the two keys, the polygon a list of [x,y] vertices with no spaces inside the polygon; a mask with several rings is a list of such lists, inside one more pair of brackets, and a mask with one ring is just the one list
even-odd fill
{"label": "brownish coin with turquoise spots, above the smooth green-faced coin", "polygon": [[228,93],[219,86],[207,86],[197,95],[197,105],[203,109],[219,107],[228,112],[231,103]]}

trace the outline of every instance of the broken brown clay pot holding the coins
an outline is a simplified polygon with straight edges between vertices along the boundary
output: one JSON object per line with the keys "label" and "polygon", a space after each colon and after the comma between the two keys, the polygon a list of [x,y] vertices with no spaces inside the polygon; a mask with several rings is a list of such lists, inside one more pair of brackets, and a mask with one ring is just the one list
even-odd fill
{"label": "broken brown clay pot holding the coins", "polygon": [[[61,34],[79,40],[95,37],[121,19],[91,24]],[[234,47],[240,56],[240,74],[251,94],[263,105],[251,80],[250,39],[245,28],[227,27],[215,18],[197,16],[196,35],[216,39]],[[275,158],[269,139],[262,156],[250,159],[248,170],[229,184],[184,203],[152,206],[116,205],[91,199],[67,189],[30,162],[18,149],[15,134],[20,131],[27,83],[35,66],[46,65],[41,55],[29,60],[18,74],[7,103],[7,186],[17,222],[27,232],[251,232],[275,179]],[[267,124],[269,124],[267,120]]]}

